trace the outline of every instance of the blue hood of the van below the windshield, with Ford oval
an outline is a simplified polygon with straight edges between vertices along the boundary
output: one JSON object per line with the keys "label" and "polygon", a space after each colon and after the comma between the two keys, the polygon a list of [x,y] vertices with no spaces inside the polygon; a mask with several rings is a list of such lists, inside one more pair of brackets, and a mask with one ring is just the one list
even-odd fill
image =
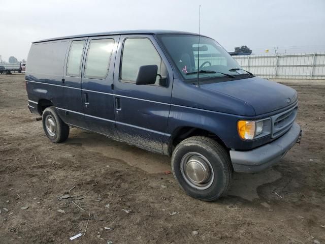
{"label": "blue hood of the van below the windshield, with Ford oval", "polygon": [[[201,84],[201,87],[250,104],[254,108],[256,115],[287,107],[297,101],[295,89],[258,77]],[[288,102],[288,98],[290,102]]]}

